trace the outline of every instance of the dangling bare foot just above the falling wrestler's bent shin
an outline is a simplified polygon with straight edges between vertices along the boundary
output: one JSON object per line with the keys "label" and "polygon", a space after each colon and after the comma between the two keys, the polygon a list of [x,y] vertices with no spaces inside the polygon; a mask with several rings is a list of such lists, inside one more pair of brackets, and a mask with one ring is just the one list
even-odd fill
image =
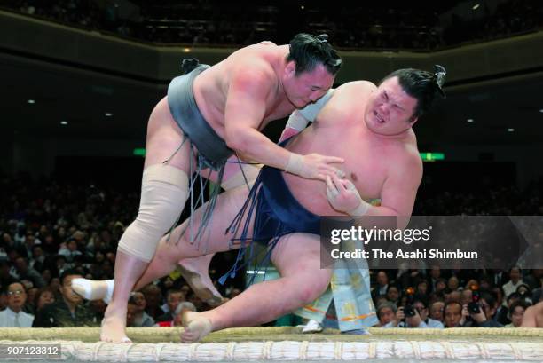
{"label": "dangling bare foot just above the falling wrestler's bent shin", "polygon": [[211,256],[201,256],[195,258],[184,258],[179,261],[179,271],[193,289],[194,294],[209,306],[218,306],[223,304],[223,296],[217,291],[213,281],[209,277],[209,262]]}

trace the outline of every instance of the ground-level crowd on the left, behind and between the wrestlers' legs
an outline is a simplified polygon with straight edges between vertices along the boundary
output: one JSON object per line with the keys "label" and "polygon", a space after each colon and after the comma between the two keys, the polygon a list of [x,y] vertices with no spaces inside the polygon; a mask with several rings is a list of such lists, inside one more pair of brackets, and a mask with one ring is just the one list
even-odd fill
{"label": "ground-level crowd on the left, behind and between the wrestlers' legs", "polygon": [[[114,277],[117,243],[137,213],[138,193],[25,174],[1,176],[0,189],[0,327],[99,326],[106,304],[83,301],[71,280]],[[232,258],[216,256],[210,270],[214,281]],[[230,279],[217,288],[231,297],[242,282]],[[131,296],[129,325],[179,324],[176,317],[186,309],[209,306],[172,272]]]}

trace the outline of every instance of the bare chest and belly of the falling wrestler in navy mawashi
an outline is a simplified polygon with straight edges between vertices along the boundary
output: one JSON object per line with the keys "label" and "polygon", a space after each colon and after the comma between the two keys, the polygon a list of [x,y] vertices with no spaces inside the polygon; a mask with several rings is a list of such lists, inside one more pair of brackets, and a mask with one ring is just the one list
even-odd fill
{"label": "bare chest and belly of the falling wrestler in navy mawashi", "polygon": [[[380,138],[367,130],[366,101],[375,86],[367,82],[345,83],[319,113],[317,121],[289,142],[287,149],[299,154],[319,153],[345,159],[346,177],[366,200],[381,198],[382,186],[392,168],[405,161],[405,148],[416,150],[412,130],[405,138]],[[326,184],[283,172],[290,191],[303,207],[320,216],[341,215],[327,201]],[[416,190],[413,191],[416,193]]]}

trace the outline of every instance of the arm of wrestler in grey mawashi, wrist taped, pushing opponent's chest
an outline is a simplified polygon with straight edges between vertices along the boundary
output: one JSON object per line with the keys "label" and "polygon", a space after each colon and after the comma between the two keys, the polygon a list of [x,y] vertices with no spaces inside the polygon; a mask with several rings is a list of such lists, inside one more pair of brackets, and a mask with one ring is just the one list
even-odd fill
{"label": "arm of wrestler in grey mawashi, wrist taped, pushing opponent's chest", "polygon": [[266,138],[259,130],[277,86],[275,74],[252,67],[232,75],[224,111],[226,144],[250,160],[286,170],[302,178],[325,180],[340,172],[331,163],[342,158],[320,154],[300,155],[287,151]]}

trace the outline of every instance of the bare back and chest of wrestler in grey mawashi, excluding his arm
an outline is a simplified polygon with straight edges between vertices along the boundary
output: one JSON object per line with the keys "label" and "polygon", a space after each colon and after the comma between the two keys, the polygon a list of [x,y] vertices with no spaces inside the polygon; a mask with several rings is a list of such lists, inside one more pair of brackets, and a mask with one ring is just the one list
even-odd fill
{"label": "bare back and chest of wrestler in grey mawashi, excluding his arm", "polygon": [[259,129],[273,120],[286,117],[295,110],[280,84],[280,72],[288,54],[287,45],[255,44],[235,51],[227,59],[205,70],[193,84],[194,98],[201,114],[217,134],[224,138],[224,108],[232,77],[258,69],[267,75],[271,90],[266,99],[264,120]]}

